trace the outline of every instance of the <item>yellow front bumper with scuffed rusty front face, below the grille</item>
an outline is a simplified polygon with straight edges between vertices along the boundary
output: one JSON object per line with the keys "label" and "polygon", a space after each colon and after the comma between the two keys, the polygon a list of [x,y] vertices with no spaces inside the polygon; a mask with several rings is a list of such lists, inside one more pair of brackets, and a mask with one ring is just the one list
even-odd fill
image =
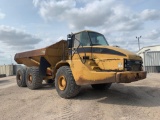
{"label": "yellow front bumper with scuffed rusty front face, below the grille", "polygon": [[77,85],[103,84],[103,83],[130,83],[145,79],[146,71],[125,72],[90,72],[75,79]]}

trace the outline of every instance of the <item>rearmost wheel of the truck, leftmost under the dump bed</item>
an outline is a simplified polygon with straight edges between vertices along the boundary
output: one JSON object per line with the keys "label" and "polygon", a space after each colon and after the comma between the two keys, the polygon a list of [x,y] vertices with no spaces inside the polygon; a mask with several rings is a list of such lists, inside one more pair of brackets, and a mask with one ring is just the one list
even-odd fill
{"label": "rearmost wheel of the truck, leftmost under the dump bed", "polygon": [[17,85],[19,87],[26,87],[26,80],[25,80],[25,74],[26,74],[26,69],[25,68],[20,68],[16,72],[16,81]]}

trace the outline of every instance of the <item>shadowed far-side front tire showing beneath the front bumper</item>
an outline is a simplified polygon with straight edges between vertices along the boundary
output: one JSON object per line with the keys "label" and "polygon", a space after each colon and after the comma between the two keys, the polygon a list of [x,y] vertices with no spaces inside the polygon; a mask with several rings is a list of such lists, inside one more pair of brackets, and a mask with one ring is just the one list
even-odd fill
{"label": "shadowed far-side front tire showing beneath the front bumper", "polygon": [[107,90],[111,87],[112,83],[105,83],[105,84],[92,84],[92,88],[95,90]]}

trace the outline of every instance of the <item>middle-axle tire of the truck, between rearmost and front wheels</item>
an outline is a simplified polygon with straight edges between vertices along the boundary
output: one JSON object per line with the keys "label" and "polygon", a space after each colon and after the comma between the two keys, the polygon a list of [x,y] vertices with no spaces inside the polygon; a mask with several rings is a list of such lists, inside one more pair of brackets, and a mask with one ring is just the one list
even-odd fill
{"label": "middle-axle tire of the truck, between rearmost and front wheels", "polygon": [[[32,80],[30,81],[30,76]],[[40,75],[38,67],[30,67],[26,71],[26,84],[31,90],[38,89],[42,87],[43,77]]]}

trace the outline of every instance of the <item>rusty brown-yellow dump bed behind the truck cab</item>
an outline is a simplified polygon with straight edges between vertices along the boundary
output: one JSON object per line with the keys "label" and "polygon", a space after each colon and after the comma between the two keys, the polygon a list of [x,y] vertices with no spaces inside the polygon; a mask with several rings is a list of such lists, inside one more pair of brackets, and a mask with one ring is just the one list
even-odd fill
{"label": "rusty brown-yellow dump bed behind the truck cab", "polygon": [[63,57],[66,57],[67,52],[64,52],[66,45],[66,40],[61,40],[42,49],[17,53],[14,59],[18,64],[31,67],[39,66],[41,57],[44,57],[51,66],[54,66],[58,61],[62,60]]}

